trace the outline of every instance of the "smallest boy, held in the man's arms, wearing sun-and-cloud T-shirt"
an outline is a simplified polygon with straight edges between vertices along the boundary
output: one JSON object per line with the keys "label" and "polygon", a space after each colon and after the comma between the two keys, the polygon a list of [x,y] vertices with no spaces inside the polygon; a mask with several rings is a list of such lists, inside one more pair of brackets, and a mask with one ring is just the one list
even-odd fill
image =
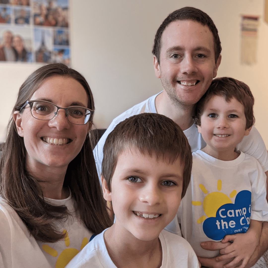
{"label": "smallest boy, held in the man's arms, wearing sun-and-cloud T-shirt", "polygon": [[217,260],[233,258],[230,264],[242,261],[240,267],[268,221],[265,173],[255,158],[236,150],[254,124],[253,104],[250,88],[228,77],[214,79],[196,104],[195,124],[207,145],[192,154],[191,181],[177,214],[197,256],[219,254],[202,249],[201,242],[233,241]]}

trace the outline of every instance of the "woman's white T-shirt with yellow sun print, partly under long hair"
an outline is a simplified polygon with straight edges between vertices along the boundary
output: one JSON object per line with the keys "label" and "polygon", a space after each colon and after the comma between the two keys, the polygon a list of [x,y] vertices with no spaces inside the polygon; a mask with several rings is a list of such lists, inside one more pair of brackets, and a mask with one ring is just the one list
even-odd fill
{"label": "woman's white T-shirt with yellow sun print, partly under long hair", "polygon": [[72,214],[57,224],[67,235],[56,243],[36,241],[18,214],[0,198],[1,268],[63,268],[88,243],[92,233],[76,217],[72,196],[62,200],[46,198],[46,201],[65,205]]}

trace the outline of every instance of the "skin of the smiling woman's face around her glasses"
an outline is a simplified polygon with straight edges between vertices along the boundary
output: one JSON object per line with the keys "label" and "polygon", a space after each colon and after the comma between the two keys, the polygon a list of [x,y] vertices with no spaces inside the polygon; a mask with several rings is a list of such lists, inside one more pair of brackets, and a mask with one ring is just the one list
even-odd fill
{"label": "skin of the smiling woman's face around her glasses", "polygon": [[[60,107],[75,106],[76,103],[83,107],[88,105],[83,86],[73,78],[62,76],[44,80],[29,101],[32,100],[51,102]],[[88,123],[71,123],[64,110],[59,110],[51,120],[37,119],[32,116],[29,104],[17,118],[18,134],[24,138],[27,166],[31,172],[36,168],[67,169],[68,164],[80,152],[89,128]]]}

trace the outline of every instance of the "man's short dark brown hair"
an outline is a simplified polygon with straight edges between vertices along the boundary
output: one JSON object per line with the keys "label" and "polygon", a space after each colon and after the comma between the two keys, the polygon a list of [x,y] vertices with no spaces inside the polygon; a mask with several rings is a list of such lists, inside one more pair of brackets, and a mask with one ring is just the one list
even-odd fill
{"label": "man's short dark brown hair", "polygon": [[152,50],[152,54],[157,58],[158,63],[160,64],[160,51],[161,51],[161,39],[162,34],[165,31],[166,27],[173,21],[177,20],[192,20],[197,21],[204,26],[207,25],[209,27],[211,33],[213,34],[214,39],[214,54],[215,54],[215,62],[217,61],[219,54],[221,54],[221,41],[219,40],[218,30],[211,20],[210,16],[203,12],[200,9],[192,8],[192,7],[184,7],[174,12],[170,13],[168,17],[165,18],[163,23],[158,28],[155,39],[154,39],[154,47]]}

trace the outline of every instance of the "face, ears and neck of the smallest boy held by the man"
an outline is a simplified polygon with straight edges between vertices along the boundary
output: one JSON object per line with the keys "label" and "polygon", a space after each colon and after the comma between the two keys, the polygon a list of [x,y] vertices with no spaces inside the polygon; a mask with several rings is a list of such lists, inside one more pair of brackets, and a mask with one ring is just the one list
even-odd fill
{"label": "face, ears and neck of the smallest boy held by the man", "polygon": [[226,102],[223,96],[212,96],[204,105],[201,126],[197,126],[207,143],[203,151],[221,160],[235,159],[236,145],[251,129],[245,129],[246,123],[244,105],[237,99]]}

